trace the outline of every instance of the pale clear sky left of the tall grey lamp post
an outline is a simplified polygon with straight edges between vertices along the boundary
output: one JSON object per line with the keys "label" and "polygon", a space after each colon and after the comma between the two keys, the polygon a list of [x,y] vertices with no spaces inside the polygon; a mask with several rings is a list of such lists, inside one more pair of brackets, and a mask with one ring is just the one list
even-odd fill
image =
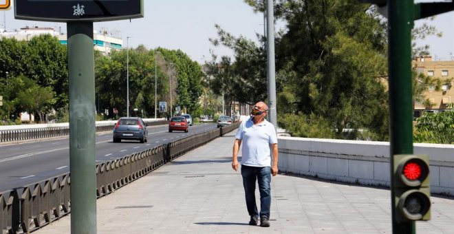
{"label": "pale clear sky left of the tall grey lamp post", "polygon": [[[66,32],[66,23],[16,20],[13,8],[0,11],[0,28],[6,24],[8,31],[39,26]],[[98,22],[94,30],[119,32],[124,46],[129,36],[129,47],[142,44],[150,50],[180,49],[193,61],[204,63],[211,59],[210,49],[219,56],[232,55],[227,48],[214,47],[208,41],[217,37],[216,23],[226,32],[254,41],[258,41],[256,33],[263,34],[263,14],[254,13],[243,0],[144,0],[144,18]]]}

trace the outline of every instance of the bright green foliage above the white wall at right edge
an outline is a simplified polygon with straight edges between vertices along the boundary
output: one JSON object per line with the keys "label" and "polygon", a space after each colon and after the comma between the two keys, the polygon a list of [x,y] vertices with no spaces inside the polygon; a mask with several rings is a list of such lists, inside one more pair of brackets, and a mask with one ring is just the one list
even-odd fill
{"label": "bright green foliage above the white wall at right edge", "polygon": [[413,128],[415,142],[454,144],[454,111],[425,112]]}

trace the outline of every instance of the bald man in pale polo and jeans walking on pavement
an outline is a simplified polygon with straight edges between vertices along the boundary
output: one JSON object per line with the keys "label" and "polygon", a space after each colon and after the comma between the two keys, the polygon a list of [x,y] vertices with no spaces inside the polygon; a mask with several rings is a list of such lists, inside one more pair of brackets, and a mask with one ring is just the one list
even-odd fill
{"label": "bald man in pale polo and jeans walking on pavement", "polygon": [[[238,128],[233,143],[232,168],[237,171],[239,162],[237,154],[241,142],[241,175],[243,177],[246,206],[250,215],[249,225],[270,226],[271,175],[277,175],[277,136],[274,126],[265,119],[268,105],[256,103],[251,111],[252,117]],[[272,167],[271,166],[272,154]],[[255,184],[259,184],[260,213],[255,203]]]}

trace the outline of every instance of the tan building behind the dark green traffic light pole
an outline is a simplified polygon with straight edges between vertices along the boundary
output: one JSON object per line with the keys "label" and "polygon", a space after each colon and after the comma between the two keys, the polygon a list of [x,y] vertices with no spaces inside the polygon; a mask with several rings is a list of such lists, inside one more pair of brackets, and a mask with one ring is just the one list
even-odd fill
{"label": "tan building behind the dark green traffic light pole", "polygon": [[431,85],[424,93],[430,103],[415,103],[414,116],[419,117],[423,111],[439,112],[452,109],[454,103],[454,61],[433,61],[431,56],[418,56],[413,59],[416,70],[426,76],[441,78],[441,90],[436,91]]}

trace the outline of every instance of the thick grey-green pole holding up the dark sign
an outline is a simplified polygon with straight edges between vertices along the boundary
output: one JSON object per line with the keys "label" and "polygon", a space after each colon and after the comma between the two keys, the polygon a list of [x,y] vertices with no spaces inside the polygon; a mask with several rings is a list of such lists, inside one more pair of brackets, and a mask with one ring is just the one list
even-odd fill
{"label": "thick grey-green pole holding up the dark sign", "polygon": [[71,233],[96,234],[93,23],[67,23]]}

